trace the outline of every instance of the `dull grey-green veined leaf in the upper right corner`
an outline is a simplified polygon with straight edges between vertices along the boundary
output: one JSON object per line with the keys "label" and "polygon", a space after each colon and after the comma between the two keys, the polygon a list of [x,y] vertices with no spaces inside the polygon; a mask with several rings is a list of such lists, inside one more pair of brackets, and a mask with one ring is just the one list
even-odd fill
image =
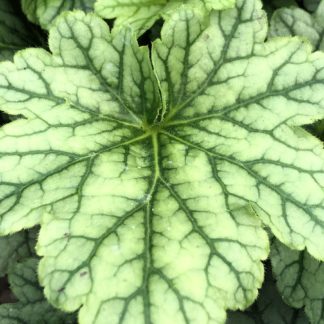
{"label": "dull grey-green veined leaf in the upper right corner", "polygon": [[297,7],[278,9],[272,16],[269,35],[302,36],[315,50],[324,50],[324,1],[314,14]]}

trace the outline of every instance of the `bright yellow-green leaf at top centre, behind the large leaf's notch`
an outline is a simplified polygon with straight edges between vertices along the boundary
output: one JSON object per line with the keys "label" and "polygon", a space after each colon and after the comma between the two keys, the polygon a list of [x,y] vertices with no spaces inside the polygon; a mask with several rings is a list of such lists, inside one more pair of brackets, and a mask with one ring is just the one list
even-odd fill
{"label": "bright yellow-green leaf at top centre, behind the large leaf's notch", "polygon": [[183,3],[210,11],[233,8],[235,0],[96,0],[95,11],[103,18],[117,18],[115,29],[131,25],[141,35],[158,18],[167,16]]}

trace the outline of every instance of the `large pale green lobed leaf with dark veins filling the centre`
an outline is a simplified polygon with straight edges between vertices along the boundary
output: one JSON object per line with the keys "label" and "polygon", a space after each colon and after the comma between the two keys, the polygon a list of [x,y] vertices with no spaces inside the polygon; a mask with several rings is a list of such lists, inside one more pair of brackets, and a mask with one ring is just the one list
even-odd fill
{"label": "large pale green lobed leaf with dark veins filling the centre", "polygon": [[182,7],[152,68],[130,29],[74,12],[52,54],[0,65],[1,109],[27,118],[1,129],[0,231],[41,223],[54,305],[81,324],[223,323],[263,281],[261,221],[324,258],[323,150],[298,127],[324,115],[324,58],[266,35],[260,1],[210,21]]}

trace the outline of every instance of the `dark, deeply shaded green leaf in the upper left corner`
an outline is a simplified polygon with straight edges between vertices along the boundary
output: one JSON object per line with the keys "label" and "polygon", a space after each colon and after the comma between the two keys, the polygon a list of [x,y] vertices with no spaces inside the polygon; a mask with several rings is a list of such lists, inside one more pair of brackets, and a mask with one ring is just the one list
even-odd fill
{"label": "dark, deeply shaded green leaf in the upper left corner", "polygon": [[12,0],[0,1],[0,61],[9,60],[16,51],[38,43],[33,29],[18,12]]}

